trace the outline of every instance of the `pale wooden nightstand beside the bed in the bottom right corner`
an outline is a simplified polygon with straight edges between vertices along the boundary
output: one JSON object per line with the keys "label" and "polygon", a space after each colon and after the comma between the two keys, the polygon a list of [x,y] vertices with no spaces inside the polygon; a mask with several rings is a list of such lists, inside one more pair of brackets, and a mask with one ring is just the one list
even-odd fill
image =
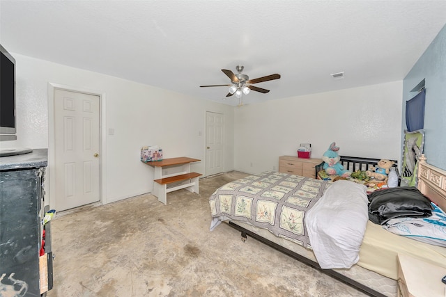
{"label": "pale wooden nightstand beside the bed in the bottom right corner", "polygon": [[444,267],[398,254],[398,296],[445,297],[446,284],[441,282],[445,275]]}

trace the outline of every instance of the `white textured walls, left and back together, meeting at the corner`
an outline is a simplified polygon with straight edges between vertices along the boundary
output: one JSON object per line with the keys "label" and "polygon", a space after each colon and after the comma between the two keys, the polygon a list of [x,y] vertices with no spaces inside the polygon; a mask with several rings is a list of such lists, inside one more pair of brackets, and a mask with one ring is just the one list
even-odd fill
{"label": "white textured walls, left and back together, meeting at the corner", "polygon": [[[114,129],[114,135],[102,135],[105,202],[152,191],[153,170],[139,161],[143,145],[160,145],[166,158],[201,159],[192,170],[205,174],[206,111],[225,116],[224,171],[277,169],[279,156],[295,155],[299,143],[312,143],[315,158],[336,141],[341,147],[339,154],[400,159],[402,81],[234,108],[104,74],[13,56],[17,60],[18,139],[1,145],[49,147],[49,83],[104,95],[105,127],[101,130]],[[49,163],[49,171],[52,166]],[[51,202],[56,209],[54,200]]]}

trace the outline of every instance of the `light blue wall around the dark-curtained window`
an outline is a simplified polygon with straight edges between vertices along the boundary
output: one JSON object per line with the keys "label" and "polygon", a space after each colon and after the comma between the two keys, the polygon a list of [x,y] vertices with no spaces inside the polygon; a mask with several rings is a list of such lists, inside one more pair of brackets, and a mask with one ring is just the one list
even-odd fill
{"label": "light blue wall around the dark-curtained window", "polygon": [[424,154],[427,163],[446,170],[446,26],[403,80],[403,130],[406,129],[406,101],[416,95],[410,90],[423,79],[426,79]]}

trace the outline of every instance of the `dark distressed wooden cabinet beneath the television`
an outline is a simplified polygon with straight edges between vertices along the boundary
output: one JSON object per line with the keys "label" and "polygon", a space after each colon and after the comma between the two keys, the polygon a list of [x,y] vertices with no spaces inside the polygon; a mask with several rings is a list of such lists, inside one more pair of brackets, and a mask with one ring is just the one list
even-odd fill
{"label": "dark distressed wooden cabinet beneath the television", "polygon": [[0,158],[0,292],[6,296],[40,296],[52,287],[51,231],[43,225],[46,166],[47,150]]}

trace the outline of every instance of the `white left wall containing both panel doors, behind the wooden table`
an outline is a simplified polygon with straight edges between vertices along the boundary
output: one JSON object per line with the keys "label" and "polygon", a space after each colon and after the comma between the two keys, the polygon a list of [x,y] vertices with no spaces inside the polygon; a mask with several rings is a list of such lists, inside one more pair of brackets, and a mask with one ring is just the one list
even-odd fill
{"label": "white left wall containing both panel doors, behind the wooden table", "polygon": [[[17,141],[2,142],[2,147],[50,147],[49,83],[105,95],[106,127],[101,131],[114,129],[114,135],[102,134],[105,156],[102,154],[101,164],[106,169],[102,172],[105,183],[101,194],[105,202],[152,191],[153,168],[139,161],[144,145],[160,145],[165,158],[201,159],[191,169],[204,175],[206,111],[224,113],[224,171],[233,170],[233,106],[28,56],[13,56],[17,61]],[[49,171],[53,166],[49,163]],[[57,209],[54,199],[51,205]]]}

